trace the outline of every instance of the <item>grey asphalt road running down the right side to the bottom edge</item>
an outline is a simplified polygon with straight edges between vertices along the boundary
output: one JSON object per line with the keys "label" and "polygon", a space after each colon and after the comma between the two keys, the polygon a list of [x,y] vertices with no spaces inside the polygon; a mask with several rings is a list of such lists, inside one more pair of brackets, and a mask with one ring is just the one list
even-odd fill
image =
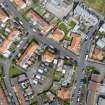
{"label": "grey asphalt road running down the right side to the bottom edge", "polygon": [[76,84],[76,89],[74,91],[74,98],[73,98],[73,104],[72,105],[78,105],[78,91],[80,90],[80,82],[81,79],[84,78],[84,74],[82,70],[86,67],[85,64],[85,58],[87,55],[87,51],[89,51],[90,46],[91,46],[91,41],[93,38],[94,32],[99,28],[99,25],[96,27],[92,28],[89,33],[87,33],[88,39],[85,40],[83,43],[81,43],[81,50],[80,50],[80,57],[78,60],[78,67],[77,67],[77,84]]}

